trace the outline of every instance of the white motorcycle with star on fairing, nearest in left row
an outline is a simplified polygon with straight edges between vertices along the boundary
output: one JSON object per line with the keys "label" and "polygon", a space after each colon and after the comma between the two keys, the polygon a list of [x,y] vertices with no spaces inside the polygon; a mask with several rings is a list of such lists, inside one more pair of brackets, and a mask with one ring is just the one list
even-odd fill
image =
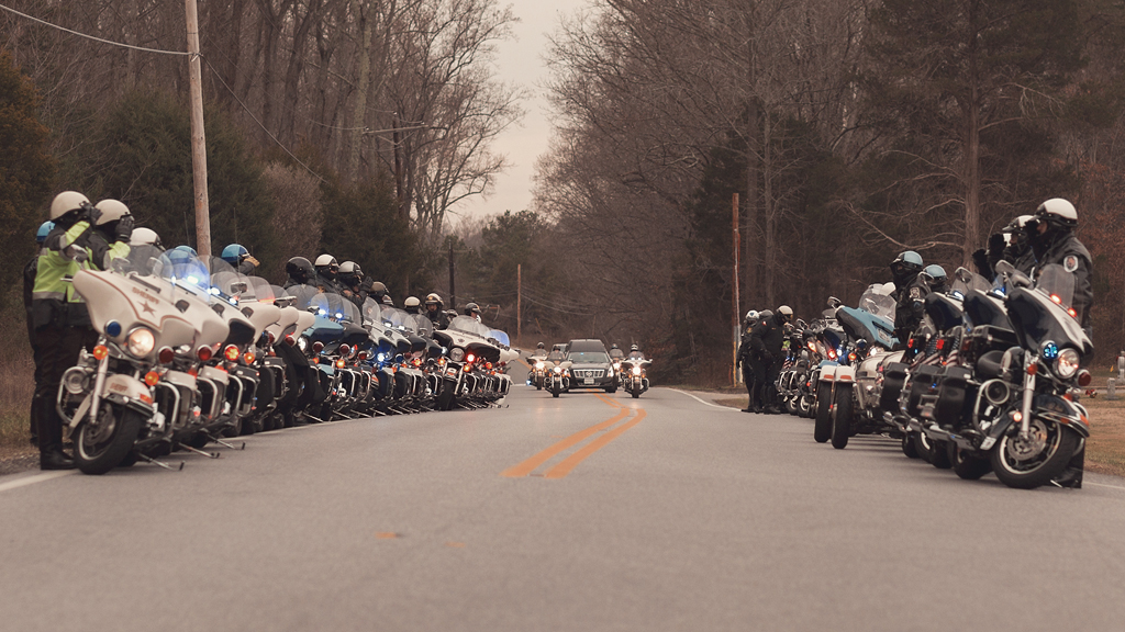
{"label": "white motorcycle with star on fairing, nearest in left row", "polygon": [[[63,374],[57,407],[84,473],[137,460],[172,469],[154,457],[198,424],[196,373],[184,369],[209,359],[230,327],[209,306],[198,259],[184,255],[174,268],[161,259],[158,249],[138,246],[109,271],[73,278],[99,338]],[[164,268],[171,278],[160,276]]]}

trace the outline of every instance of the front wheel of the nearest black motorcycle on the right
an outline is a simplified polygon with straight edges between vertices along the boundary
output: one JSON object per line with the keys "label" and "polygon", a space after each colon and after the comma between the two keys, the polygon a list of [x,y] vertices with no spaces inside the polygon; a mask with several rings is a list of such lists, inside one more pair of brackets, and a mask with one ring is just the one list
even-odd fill
{"label": "front wheel of the nearest black motorcycle on the right", "polygon": [[1034,489],[1061,475],[1080,444],[1077,432],[1035,417],[1026,439],[1019,436],[1018,425],[1000,437],[992,449],[992,471],[1008,487]]}

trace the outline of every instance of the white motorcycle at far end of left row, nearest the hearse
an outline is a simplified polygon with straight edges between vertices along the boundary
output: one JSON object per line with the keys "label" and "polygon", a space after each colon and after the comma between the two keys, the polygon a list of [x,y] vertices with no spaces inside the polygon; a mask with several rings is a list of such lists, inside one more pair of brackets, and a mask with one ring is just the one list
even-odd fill
{"label": "white motorcycle at far end of left row, nearest the hearse", "polygon": [[[433,333],[446,351],[442,379],[436,392],[438,408],[478,407],[484,388],[482,367],[498,362],[501,350],[489,342],[490,329],[471,316],[457,316],[444,329]],[[557,397],[557,396],[556,396]]]}

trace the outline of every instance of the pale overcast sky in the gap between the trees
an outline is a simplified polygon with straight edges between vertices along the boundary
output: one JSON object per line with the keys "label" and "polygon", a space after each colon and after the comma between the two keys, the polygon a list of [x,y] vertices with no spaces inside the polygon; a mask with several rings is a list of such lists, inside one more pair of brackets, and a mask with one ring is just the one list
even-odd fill
{"label": "pale overcast sky in the gap between the trees", "polygon": [[555,31],[561,16],[573,16],[587,4],[587,0],[512,0],[510,3],[520,22],[513,27],[515,37],[498,47],[500,78],[522,85],[532,98],[523,102],[526,114],[522,123],[510,127],[493,146],[493,151],[507,156],[511,166],[497,178],[496,189],[488,199],[478,197],[457,209],[461,216],[518,211],[531,205],[536,159],[547,150],[550,138],[547,100],[541,88],[548,76],[543,65],[547,36]]}

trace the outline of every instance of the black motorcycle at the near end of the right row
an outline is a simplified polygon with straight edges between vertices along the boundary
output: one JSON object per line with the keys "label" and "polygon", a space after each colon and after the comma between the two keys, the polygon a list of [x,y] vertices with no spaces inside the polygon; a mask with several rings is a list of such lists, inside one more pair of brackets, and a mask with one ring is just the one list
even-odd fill
{"label": "black motorcycle at the near end of the right row", "polygon": [[[1033,282],[1008,262],[997,272],[990,295],[965,296],[960,360],[945,367],[922,416],[932,421],[929,437],[947,443],[962,478],[992,471],[1009,487],[1033,489],[1063,475],[1090,436],[1077,399],[1091,381],[1081,365],[1094,344],[1070,307],[1073,274],[1052,264]],[[1015,334],[1010,346],[1008,332],[994,324],[998,300]]]}

